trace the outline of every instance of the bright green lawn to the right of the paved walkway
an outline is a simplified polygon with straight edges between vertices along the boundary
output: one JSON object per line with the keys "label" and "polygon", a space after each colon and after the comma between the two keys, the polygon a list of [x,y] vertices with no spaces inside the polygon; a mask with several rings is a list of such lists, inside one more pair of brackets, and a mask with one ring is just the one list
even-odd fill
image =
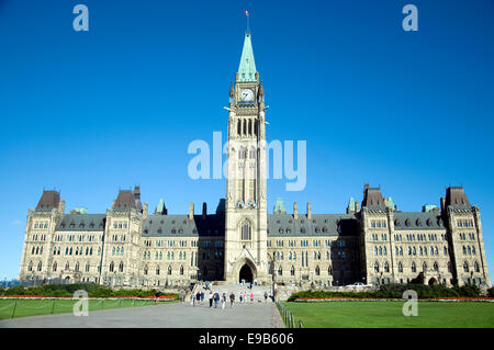
{"label": "bright green lawn to the right of the paved walkway", "polygon": [[418,316],[403,316],[405,302],[282,303],[306,328],[493,328],[494,303],[418,302]]}

